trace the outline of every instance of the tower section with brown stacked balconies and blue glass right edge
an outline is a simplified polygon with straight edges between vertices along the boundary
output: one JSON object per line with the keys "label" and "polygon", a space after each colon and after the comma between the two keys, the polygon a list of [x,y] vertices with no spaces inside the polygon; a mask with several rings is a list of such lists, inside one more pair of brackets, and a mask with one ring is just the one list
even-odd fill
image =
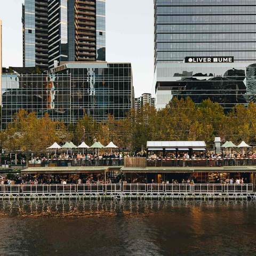
{"label": "tower section with brown stacked balconies and blue glass right edge", "polygon": [[105,0],[68,1],[69,61],[106,60]]}

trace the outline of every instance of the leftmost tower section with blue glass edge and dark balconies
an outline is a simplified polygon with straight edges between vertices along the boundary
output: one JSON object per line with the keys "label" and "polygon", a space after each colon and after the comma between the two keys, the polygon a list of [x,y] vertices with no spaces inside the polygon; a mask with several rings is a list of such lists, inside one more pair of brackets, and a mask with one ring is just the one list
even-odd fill
{"label": "leftmost tower section with blue glass edge and dark balconies", "polygon": [[23,67],[48,67],[48,1],[22,4]]}

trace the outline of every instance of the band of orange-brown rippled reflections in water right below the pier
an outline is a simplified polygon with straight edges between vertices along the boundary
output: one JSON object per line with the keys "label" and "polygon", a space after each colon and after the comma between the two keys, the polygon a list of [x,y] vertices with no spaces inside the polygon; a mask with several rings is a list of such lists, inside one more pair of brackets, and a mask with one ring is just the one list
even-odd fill
{"label": "band of orange-brown rippled reflections in water right below the pier", "polygon": [[103,217],[103,216],[141,216],[149,214],[165,214],[178,210],[189,211],[195,222],[198,222],[204,210],[211,209],[243,209],[256,207],[254,201],[89,201],[74,199],[42,200],[42,201],[2,201],[0,202],[0,215],[10,217]]}

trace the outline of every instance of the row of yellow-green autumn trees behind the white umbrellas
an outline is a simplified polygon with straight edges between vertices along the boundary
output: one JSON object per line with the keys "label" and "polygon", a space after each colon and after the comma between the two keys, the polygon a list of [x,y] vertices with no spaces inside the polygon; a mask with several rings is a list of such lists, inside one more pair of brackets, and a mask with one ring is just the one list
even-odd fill
{"label": "row of yellow-green autumn trees behind the white umbrellas", "polygon": [[195,105],[190,98],[174,98],[166,108],[156,110],[144,106],[132,109],[125,119],[109,116],[105,122],[96,122],[84,116],[75,125],[52,121],[45,114],[20,110],[13,122],[0,133],[1,147],[5,150],[39,152],[53,142],[72,140],[77,145],[85,141],[91,145],[94,139],[107,145],[113,141],[121,149],[143,149],[148,140],[204,140],[208,147],[214,137],[239,143],[256,142],[256,104],[247,107],[237,105],[228,113],[210,100]]}

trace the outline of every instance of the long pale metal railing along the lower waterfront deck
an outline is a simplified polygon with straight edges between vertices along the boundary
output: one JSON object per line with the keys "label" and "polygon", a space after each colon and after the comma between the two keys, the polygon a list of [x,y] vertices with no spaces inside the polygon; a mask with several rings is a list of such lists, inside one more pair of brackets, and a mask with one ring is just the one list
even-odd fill
{"label": "long pale metal railing along the lower waterfront deck", "polygon": [[252,184],[52,184],[52,185],[0,185],[0,197],[19,196],[168,196],[170,194],[248,194]]}

